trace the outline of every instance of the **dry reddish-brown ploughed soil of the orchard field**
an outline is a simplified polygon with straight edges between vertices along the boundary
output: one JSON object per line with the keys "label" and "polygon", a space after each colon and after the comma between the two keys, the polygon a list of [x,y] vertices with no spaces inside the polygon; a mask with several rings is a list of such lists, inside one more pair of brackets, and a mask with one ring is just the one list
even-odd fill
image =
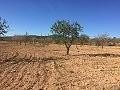
{"label": "dry reddish-brown ploughed soil of the orchard field", "polygon": [[0,43],[0,90],[119,90],[120,47]]}

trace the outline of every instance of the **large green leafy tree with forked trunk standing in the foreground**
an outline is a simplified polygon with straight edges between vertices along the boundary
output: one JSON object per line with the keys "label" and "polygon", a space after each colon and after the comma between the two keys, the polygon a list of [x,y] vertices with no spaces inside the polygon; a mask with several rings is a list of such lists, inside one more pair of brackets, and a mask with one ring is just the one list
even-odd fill
{"label": "large green leafy tree with forked trunk standing in the foreground", "polygon": [[71,45],[78,38],[82,28],[77,22],[70,23],[69,21],[58,20],[52,25],[51,32],[55,39],[65,44],[68,55]]}

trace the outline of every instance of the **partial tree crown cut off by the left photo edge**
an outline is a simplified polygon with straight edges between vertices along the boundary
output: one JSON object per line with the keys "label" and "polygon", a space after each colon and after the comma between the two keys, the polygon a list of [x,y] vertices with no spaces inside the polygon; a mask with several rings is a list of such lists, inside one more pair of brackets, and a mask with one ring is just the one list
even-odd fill
{"label": "partial tree crown cut off by the left photo edge", "polygon": [[8,29],[9,29],[9,25],[7,25],[7,21],[0,17],[0,36],[7,33]]}

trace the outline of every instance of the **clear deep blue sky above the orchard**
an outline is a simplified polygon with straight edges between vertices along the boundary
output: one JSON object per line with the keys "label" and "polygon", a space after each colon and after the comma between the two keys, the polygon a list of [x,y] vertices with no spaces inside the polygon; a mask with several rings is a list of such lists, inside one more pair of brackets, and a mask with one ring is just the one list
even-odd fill
{"label": "clear deep blue sky above the orchard", "polygon": [[91,37],[120,37],[120,0],[0,0],[0,16],[10,25],[7,35],[48,35],[57,20],[70,20]]}

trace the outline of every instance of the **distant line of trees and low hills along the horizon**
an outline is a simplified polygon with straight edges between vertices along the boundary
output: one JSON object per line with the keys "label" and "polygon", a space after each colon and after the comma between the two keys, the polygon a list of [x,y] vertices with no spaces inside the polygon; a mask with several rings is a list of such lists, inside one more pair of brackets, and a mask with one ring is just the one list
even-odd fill
{"label": "distant line of trees and low hills along the horizon", "polygon": [[[19,45],[21,44],[62,44],[58,41],[57,37],[54,35],[49,36],[37,36],[37,35],[15,35],[15,36],[4,36],[0,37],[0,41],[14,42]],[[90,38],[86,34],[82,34],[74,42],[77,45],[96,45],[96,46],[120,46],[120,38],[117,37],[107,37],[105,34]]]}

